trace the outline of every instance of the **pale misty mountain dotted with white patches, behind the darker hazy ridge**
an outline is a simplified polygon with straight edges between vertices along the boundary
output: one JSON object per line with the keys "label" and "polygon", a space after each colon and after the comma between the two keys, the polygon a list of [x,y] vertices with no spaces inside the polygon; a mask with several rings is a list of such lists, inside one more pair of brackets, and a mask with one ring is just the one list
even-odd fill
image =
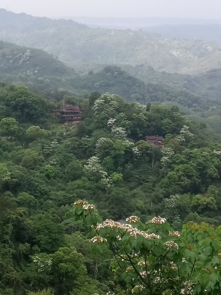
{"label": "pale misty mountain dotted with white patches, behind the darker hazy ridge", "polygon": [[0,39],[43,49],[68,63],[144,64],[172,73],[200,73],[221,66],[220,47],[202,40],[165,39],[141,30],[92,29],[72,20],[5,9],[0,9]]}

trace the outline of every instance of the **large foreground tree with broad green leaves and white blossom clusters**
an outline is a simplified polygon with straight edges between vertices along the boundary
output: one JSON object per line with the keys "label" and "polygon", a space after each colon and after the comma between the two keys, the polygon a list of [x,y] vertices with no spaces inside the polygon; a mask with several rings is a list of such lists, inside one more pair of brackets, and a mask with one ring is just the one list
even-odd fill
{"label": "large foreground tree with broad green leaves and white blossom clusters", "polygon": [[113,253],[111,266],[129,294],[221,294],[220,227],[189,222],[174,232],[161,217],[146,224],[136,216],[126,224],[102,221],[86,201],[75,202],[67,215],[91,224],[93,251]]}

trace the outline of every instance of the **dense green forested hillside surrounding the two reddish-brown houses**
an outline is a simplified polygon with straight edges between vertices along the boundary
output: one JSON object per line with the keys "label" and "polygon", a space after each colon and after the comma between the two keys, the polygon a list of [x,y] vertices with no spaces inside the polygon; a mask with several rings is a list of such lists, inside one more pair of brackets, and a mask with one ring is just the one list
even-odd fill
{"label": "dense green forested hillside surrounding the two reddish-brown houses", "polygon": [[[177,106],[98,92],[66,94],[83,120],[62,125],[51,113],[60,99],[1,83],[0,294],[131,294],[110,269],[114,254],[91,248],[89,224],[65,214],[83,199],[104,219],[219,226],[220,136]],[[146,135],[163,136],[165,148]]]}

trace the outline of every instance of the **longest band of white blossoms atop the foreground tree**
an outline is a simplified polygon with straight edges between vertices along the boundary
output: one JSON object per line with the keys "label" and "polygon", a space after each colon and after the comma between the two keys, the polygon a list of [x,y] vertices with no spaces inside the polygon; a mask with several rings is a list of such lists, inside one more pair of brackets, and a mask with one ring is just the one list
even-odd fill
{"label": "longest band of white blossoms atop the foreground tree", "polygon": [[137,235],[141,235],[145,237],[146,239],[153,240],[153,239],[160,239],[161,237],[159,235],[156,235],[154,233],[147,233],[141,230],[138,230],[137,228],[134,228],[131,224],[121,224],[119,222],[116,222],[112,219],[106,219],[102,224],[97,224],[97,230],[99,230],[102,227],[110,227],[110,228],[119,228],[121,230],[124,230],[125,232],[129,233],[132,237],[136,239]]}

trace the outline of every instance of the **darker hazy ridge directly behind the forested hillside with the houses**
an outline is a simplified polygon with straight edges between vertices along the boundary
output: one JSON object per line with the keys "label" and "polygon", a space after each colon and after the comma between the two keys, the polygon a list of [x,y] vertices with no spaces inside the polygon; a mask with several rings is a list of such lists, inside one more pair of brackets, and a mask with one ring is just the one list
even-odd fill
{"label": "darker hazy ridge directly behind the forested hillside with the houses", "polygon": [[96,73],[78,74],[43,50],[9,42],[1,42],[0,46],[0,80],[23,83],[34,91],[47,93],[47,96],[62,88],[72,93],[82,90],[110,92],[122,96],[126,101],[142,104],[176,101],[189,108],[197,107],[197,110],[205,110],[213,105],[210,101],[205,103],[202,97],[163,83],[145,85],[118,67],[107,66]]}

